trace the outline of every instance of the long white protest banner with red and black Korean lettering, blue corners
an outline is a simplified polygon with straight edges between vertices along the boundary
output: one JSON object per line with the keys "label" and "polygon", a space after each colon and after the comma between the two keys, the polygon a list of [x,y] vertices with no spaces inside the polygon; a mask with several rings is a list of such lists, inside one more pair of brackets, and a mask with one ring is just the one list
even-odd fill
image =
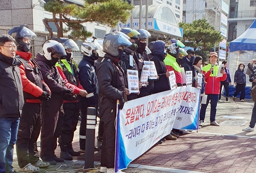
{"label": "long white protest banner with red and black Korean lettering, blue corners", "polygon": [[197,88],[178,87],[125,103],[117,111],[115,172],[170,134],[177,117],[180,126],[198,127],[199,97]]}

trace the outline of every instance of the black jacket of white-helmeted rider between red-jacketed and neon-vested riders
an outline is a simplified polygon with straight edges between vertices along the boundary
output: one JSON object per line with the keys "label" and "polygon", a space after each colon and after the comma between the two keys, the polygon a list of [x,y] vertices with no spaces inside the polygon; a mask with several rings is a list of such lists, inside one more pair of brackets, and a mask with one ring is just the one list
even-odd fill
{"label": "black jacket of white-helmeted rider between red-jacketed and neon-vested riders", "polygon": [[52,94],[65,94],[67,88],[56,67],[52,66],[41,53],[37,53],[35,60],[40,66],[42,78]]}

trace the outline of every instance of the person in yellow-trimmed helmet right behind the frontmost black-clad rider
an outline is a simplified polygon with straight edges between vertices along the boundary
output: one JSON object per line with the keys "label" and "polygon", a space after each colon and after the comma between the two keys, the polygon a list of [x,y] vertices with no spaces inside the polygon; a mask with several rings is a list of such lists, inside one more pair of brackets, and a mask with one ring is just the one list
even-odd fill
{"label": "person in yellow-trimmed helmet right behind the frontmost black-clad rider", "polygon": [[[120,30],[120,32],[126,34],[129,36],[131,39],[130,41],[132,42],[132,45],[128,48],[125,48],[123,50],[124,54],[121,57],[120,66],[123,68],[125,76],[127,78],[127,70],[137,70],[138,67],[137,64],[134,60],[134,52],[137,50],[138,45],[135,43],[135,40],[138,39],[138,35],[140,34],[138,31],[131,29],[131,28],[123,28]],[[128,88],[128,83],[125,81],[125,87]],[[139,88],[142,87],[142,82],[139,81]],[[138,93],[131,93],[130,95],[127,95],[127,100],[133,100],[136,99],[137,96],[140,94]]]}

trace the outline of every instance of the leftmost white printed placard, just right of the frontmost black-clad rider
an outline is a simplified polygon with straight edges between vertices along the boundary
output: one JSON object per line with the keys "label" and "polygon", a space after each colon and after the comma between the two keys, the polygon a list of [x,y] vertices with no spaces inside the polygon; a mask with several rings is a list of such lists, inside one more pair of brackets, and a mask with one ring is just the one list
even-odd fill
{"label": "leftmost white printed placard, just right of the frontmost black-clad rider", "polygon": [[127,70],[128,89],[130,93],[139,92],[139,77],[137,70]]}

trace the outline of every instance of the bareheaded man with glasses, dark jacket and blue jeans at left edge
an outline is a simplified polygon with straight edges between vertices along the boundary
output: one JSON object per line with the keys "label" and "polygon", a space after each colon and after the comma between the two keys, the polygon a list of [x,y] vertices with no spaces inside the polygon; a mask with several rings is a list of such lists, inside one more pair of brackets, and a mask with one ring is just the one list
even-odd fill
{"label": "bareheaded man with glasses, dark jacket and blue jeans at left edge", "polygon": [[12,166],[13,146],[24,100],[15,53],[15,39],[0,35],[0,172],[16,172]]}

